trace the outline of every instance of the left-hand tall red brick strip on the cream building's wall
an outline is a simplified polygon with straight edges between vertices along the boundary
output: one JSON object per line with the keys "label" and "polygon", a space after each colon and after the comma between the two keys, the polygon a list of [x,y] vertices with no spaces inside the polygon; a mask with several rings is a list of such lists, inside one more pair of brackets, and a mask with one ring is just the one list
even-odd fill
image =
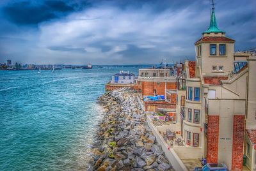
{"label": "left-hand tall red brick strip on the cream building's wall", "polygon": [[218,163],[219,116],[208,115],[207,163]]}

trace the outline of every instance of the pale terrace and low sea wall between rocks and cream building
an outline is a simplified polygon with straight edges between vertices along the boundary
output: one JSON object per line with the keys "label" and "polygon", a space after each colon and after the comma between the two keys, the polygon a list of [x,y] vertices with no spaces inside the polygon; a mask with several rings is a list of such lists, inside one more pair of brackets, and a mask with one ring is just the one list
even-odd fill
{"label": "pale terrace and low sea wall between rocks and cream building", "polygon": [[173,139],[166,137],[166,130],[176,132],[176,130],[179,130],[179,124],[166,122],[152,115],[147,116],[147,123],[175,170],[193,170],[195,167],[202,167],[199,161],[201,158],[200,147],[184,145],[179,133]]}

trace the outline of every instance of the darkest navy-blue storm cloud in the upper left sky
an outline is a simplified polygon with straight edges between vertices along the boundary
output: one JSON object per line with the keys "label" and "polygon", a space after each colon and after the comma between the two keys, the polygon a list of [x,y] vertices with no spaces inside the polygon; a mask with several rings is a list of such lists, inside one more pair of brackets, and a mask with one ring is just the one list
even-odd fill
{"label": "darkest navy-blue storm cloud in the upper left sky", "polygon": [[[83,4],[88,5],[87,3]],[[38,24],[51,19],[58,19],[76,11],[78,4],[65,1],[18,1],[4,6],[3,12],[15,24]]]}

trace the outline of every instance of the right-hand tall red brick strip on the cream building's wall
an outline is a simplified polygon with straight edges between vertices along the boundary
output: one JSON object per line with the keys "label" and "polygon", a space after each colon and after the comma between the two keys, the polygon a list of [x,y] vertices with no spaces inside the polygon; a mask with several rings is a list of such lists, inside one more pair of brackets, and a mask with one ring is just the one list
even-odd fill
{"label": "right-hand tall red brick strip on the cream building's wall", "polygon": [[232,170],[243,170],[244,115],[234,115]]}

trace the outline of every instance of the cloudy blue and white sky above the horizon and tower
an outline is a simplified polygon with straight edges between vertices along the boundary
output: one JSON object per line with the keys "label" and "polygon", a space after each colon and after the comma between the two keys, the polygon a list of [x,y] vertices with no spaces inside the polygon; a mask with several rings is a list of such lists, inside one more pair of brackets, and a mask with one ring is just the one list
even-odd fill
{"label": "cloudy blue and white sky above the horizon and tower", "polygon": [[[256,47],[256,1],[216,0],[235,50]],[[0,63],[157,64],[195,60],[211,0],[0,1]]]}

